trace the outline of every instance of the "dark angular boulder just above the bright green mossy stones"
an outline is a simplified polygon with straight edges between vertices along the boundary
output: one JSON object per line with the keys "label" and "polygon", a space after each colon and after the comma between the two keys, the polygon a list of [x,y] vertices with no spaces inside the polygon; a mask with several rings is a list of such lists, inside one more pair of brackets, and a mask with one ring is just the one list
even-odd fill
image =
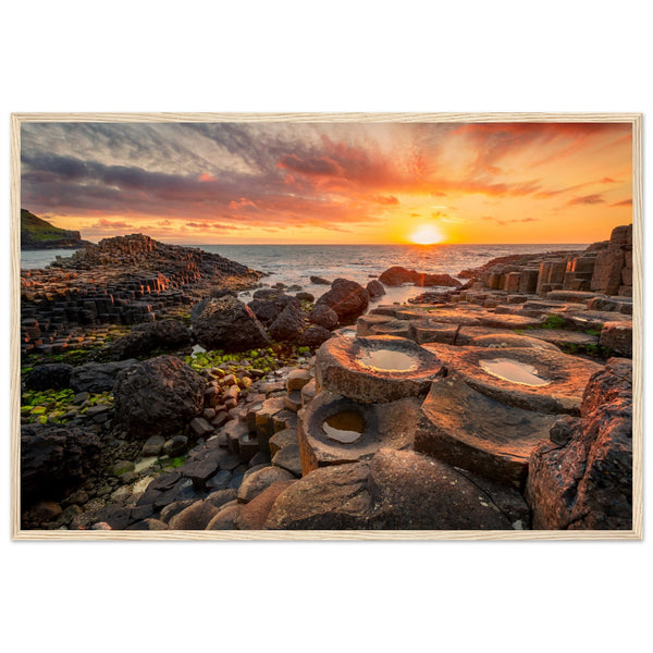
{"label": "dark angular boulder just above the bright green mossy stones", "polygon": [[235,297],[208,299],[192,315],[193,332],[206,349],[243,352],[269,344],[252,310]]}

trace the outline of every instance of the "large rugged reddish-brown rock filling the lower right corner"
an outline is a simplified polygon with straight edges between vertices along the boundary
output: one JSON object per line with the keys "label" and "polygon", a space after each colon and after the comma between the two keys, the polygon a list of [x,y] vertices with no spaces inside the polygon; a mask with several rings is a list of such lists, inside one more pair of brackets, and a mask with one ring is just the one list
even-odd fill
{"label": "large rugged reddish-brown rock filling the lower right corner", "polygon": [[632,528],[632,364],[611,358],[592,377],[564,445],[530,458],[526,498],[535,529]]}

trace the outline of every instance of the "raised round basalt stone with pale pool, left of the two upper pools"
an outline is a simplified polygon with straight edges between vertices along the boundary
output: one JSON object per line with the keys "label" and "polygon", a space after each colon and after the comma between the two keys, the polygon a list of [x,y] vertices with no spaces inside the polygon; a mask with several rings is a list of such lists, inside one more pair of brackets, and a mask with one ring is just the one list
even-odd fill
{"label": "raised round basalt stone with pale pool, left of the two upper pools", "polygon": [[316,356],[318,387],[361,404],[426,395],[441,371],[442,362],[431,352],[386,335],[331,338]]}

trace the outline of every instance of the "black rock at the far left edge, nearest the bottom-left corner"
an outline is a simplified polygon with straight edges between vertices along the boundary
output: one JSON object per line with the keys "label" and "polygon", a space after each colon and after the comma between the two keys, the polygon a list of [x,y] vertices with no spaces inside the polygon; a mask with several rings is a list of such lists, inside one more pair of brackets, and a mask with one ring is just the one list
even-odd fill
{"label": "black rock at the far left edge, nearest the bottom-left corner", "polygon": [[87,429],[21,427],[21,500],[56,498],[81,484],[98,468],[100,447],[98,435]]}

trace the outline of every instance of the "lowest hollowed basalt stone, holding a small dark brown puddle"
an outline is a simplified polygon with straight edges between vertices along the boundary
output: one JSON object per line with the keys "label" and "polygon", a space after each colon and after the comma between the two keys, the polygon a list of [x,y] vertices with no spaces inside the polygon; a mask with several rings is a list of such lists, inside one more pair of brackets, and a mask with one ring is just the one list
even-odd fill
{"label": "lowest hollowed basalt stone, holding a small dark brown puddle", "polygon": [[357,463],[379,448],[409,448],[415,438],[421,401],[361,405],[322,392],[299,411],[301,473],[318,467]]}

